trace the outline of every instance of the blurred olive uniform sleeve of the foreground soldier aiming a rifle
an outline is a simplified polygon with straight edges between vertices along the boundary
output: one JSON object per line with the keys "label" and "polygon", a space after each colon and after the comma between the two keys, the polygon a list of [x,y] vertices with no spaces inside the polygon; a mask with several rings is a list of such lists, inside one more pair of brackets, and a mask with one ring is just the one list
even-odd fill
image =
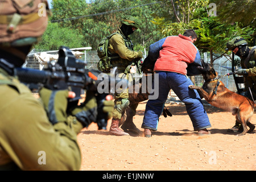
{"label": "blurred olive uniform sleeve of the foreground soldier aiming a rifle", "polygon": [[0,165],[13,161],[22,170],[79,170],[76,131],[82,129],[80,122],[74,126],[76,122],[67,119],[52,125],[43,105],[31,93],[20,95],[14,89],[8,89],[8,93],[0,100],[11,108],[0,111],[5,118],[0,124]]}

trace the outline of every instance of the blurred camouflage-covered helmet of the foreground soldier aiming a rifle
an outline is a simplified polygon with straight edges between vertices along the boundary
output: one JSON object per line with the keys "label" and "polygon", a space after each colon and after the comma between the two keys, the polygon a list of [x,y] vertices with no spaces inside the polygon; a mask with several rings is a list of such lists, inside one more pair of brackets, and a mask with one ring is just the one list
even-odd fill
{"label": "blurred camouflage-covered helmet of the foreground soldier aiming a rifle", "polygon": [[48,24],[47,0],[3,1],[0,6],[0,46],[38,42]]}

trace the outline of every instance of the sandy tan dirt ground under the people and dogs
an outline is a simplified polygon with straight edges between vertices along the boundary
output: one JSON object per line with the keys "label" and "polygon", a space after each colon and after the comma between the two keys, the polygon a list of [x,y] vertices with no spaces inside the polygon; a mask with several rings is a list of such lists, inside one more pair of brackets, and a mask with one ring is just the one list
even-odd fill
{"label": "sandy tan dirt ground under the people and dogs", "polygon": [[[82,152],[81,171],[256,170],[256,131],[238,137],[226,130],[234,126],[232,113],[205,104],[211,135],[199,137],[184,105],[166,104],[172,117],[159,119],[151,138],[109,135],[96,123],[78,135]],[[134,116],[140,129],[146,101]],[[251,123],[256,124],[254,112]]]}

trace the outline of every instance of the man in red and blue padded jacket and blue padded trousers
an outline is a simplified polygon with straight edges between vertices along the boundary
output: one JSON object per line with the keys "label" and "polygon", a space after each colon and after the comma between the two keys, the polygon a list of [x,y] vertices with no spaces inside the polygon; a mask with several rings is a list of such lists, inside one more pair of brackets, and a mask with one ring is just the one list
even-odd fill
{"label": "man in red and blue padded jacket and blue padded trousers", "polygon": [[[201,65],[199,50],[193,44],[196,40],[196,32],[186,30],[183,35],[168,36],[150,45],[146,59],[155,60],[154,71],[158,73],[159,80],[154,82],[159,85],[159,94],[157,99],[147,101],[142,123],[145,137],[150,138],[151,130],[157,130],[170,89],[184,102],[197,134],[210,134],[207,129],[211,125],[200,96],[196,90],[188,89],[188,85],[193,84],[187,77],[193,70],[189,65]],[[200,75],[200,72],[193,75]]]}

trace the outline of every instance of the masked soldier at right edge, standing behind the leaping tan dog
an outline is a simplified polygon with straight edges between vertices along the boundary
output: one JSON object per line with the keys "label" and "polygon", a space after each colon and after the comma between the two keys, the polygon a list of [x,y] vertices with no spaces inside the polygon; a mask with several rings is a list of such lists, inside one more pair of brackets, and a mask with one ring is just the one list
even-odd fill
{"label": "masked soldier at right edge, standing behind the leaping tan dog", "polygon": [[[230,40],[226,44],[226,50],[233,51],[235,55],[241,59],[241,69],[238,69],[235,74],[244,77],[245,83],[245,96],[250,100],[255,101],[256,99],[256,46],[248,47],[248,43],[245,39],[240,36]],[[243,131],[243,127],[236,121],[236,125],[228,132],[239,132]]]}

